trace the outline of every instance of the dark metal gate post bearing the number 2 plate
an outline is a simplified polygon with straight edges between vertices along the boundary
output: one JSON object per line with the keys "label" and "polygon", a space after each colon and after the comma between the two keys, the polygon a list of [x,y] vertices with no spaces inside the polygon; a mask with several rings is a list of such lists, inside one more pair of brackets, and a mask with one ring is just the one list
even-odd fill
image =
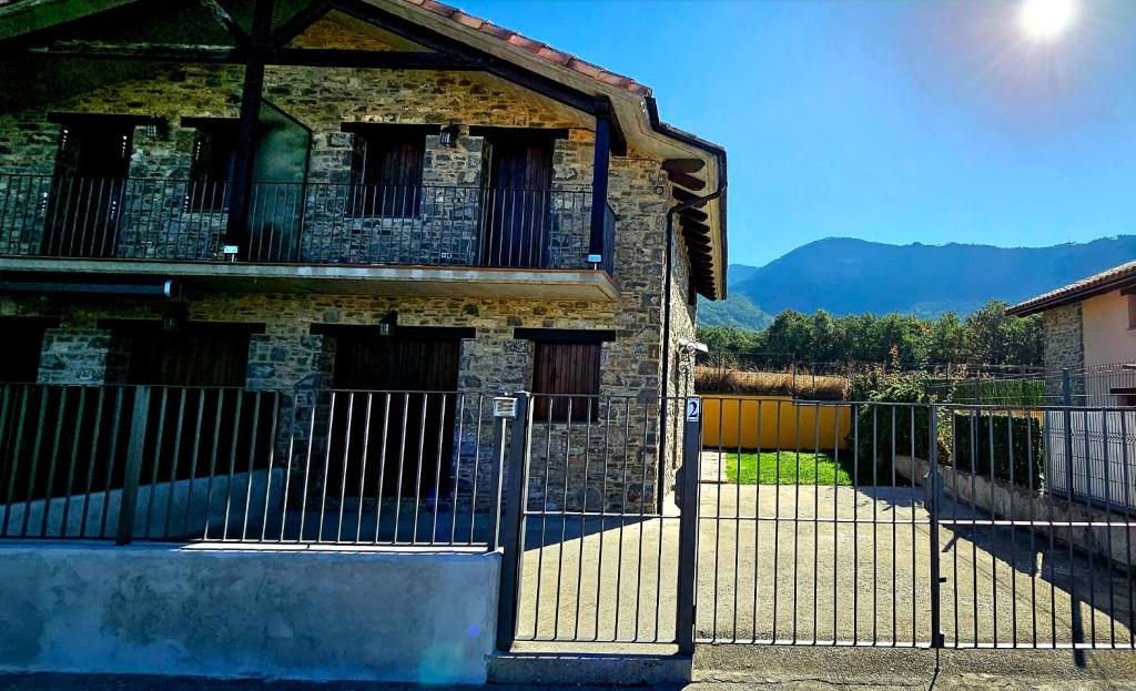
{"label": "dark metal gate post bearing the number 2 plate", "polygon": [[[675,640],[680,655],[694,653],[694,608],[699,557],[699,459],[702,453],[702,398],[685,399],[683,467],[678,473],[678,611]],[[666,403],[665,403],[666,405]]]}

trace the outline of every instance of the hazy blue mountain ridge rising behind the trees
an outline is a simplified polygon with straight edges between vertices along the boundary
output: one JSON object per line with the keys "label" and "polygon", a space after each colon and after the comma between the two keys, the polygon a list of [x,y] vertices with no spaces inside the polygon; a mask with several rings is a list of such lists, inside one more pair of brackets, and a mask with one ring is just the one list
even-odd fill
{"label": "hazy blue mountain ridge rising behind the trees", "polygon": [[702,301],[699,324],[761,328],[785,309],[966,315],[991,299],[1018,302],[1134,257],[1136,235],[1043,248],[827,238],[762,267],[730,265],[729,299]]}

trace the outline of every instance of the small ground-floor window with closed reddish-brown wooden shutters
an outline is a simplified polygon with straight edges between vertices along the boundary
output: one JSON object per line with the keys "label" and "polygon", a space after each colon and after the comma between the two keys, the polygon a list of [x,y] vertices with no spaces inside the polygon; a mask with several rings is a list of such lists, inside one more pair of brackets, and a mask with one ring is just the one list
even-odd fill
{"label": "small ground-floor window with closed reddish-brown wooden shutters", "polygon": [[533,365],[536,422],[599,419],[600,344],[537,342]]}

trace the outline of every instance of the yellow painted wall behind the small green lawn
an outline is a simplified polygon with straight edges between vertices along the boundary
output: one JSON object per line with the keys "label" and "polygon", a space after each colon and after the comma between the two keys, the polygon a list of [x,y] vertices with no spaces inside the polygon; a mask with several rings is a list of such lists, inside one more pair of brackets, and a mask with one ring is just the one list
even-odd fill
{"label": "yellow painted wall behind the small green lawn", "polygon": [[703,448],[720,442],[737,449],[741,441],[742,449],[757,449],[760,423],[762,449],[796,449],[797,442],[802,450],[846,449],[852,406],[799,403],[787,396],[703,396],[702,421]]}

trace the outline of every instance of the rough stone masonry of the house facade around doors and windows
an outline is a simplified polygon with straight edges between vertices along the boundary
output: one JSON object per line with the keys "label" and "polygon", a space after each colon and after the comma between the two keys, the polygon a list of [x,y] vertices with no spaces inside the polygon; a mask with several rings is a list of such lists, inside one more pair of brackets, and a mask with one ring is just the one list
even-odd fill
{"label": "rough stone masonry of the house facade around doors and windows", "polygon": [[[342,17],[324,20],[296,41],[298,45],[341,47],[370,44],[383,38],[353,20]],[[360,38],[361,36],[361,38]],[[8,90],[28,88],[51,69],[45,61],[25,60],[17,68],[0,70],[0,85]],[[158,181],[184,180],[189,175],[194,131],[182,126],[183,117],[225,117],[239,114],[242,69],[234,66],[161,65],[134,73],[107,69],[112,78],[91,75],[87,81],[59,85],[50,94],[31,99],[26,108],[0,114],[0,174],[34,172],[50,183],[60,125],[48,119],[51,111],[126,114],[161,118],[166,126],[137,127],[134,131],[131,175]],[[304,205],[307,235],[298,245],[301,259],[309,261],[410,261],[425,251],[433,264],[469,263],[477,251],[475,231],[479,211],[473,199],[437,203],[425,193],[423,214],[415,219],[366,219],[356,223],[344,213],[344,200],[335,201],[350,183],[352,134],[346,123],[386,123],[412,125],[457,125],[459,136],[453,148],[442,147],[436,135],[427,138],[424,184],[445,185],[449,194],[474,189],[484,175],[485,140],[471,136],[469,127],[538,127],[567,131],[553,147],[553,182],[550,197],[550,228],[545,258],[549,266],[586,268],[590,189],[594,122],[550,99],[533,94],[491,75],[462,72],[379,70],[273,66],[267,69],[266,99],[311,130],[311,149],[306,194],[317,195]],[[584,191],[580,191],[584,190]],[[337,192],[335,192],[337,191]],[[31,214],[31,232],[42,232],[42,209],[34,193],[5,194],[6,200],[24,205]],[[144,193],[143,193],[144,192]],[[334,193],[333,193],[334,192]],[[147,193],[149,194],[145,201]],[[323,194],[323,197],[318,197]],[[186,192],[177,189],[157,197],[145,188],[127,194],[123,217],[140,218],[141,230],[124,234],[120,251],[133,257],[216,256],[222,217],[194,213],[185,203]],[[8,203],[7,201],[5,203]],[[666,251],[665,217],[670,203],[666,175],[658,158],[634,149],[625,157],[613,157],[609,176],[609,203],[616,215],[613,276],[619,298],[613,303],[537,300],[463,300],[385,297],[332,297],[296,294],[191,295],[186,300],[190,320],[236,320],[265,323],[266,333],[250,348],[249,385],[291,388],[295,415],[310,415],[306,398],[314,384],[328,372],[319,360],[310,334],[315,323],[374,325],[389,311],[398,310],[399,324],[410,326],[470,326],[476,338],[462,346],[460,388],[462,391],[509,391],[528,388],[532,376],[532,344],[517,341],[513,330],[568,328],[613,331],[616,339],[605,343],[602,353],[601,396],[621,397],[646,411],[658,427],[658,401],[662,394],[680,394],[682,376],[677,351],[671,348],[671,382],[661,381],[663,261]],[[23,207],[22,207],[23,208]],[[5,211],[6,213],[6,211]],[[35,217],[35,214],[41,214]],[[12,217],[8,215],[6,217]],[[131,220],[125,225],[137,225]],[[154,233],[158,228],[162,233]],[[165,232],[169,231],[169,232]],[[37,238],[17,238],[20,247],[35,251]],[[0,240],[0,245],[3,241]],[[676,243],[675,282],[671,290],[673,346],[680,338],[693,338],[693,308],[686,305],[687,270],[682,243]],[[0,251],[3,248],[0,247]],[[7,301],[7,305],[5,303]],[[94,328],[100,318],[160,318],[165,305],[131,300],[62,300],[0,298],[0,309],[22,315],[58,315],[76,338]],[[312,350],[315,348],[315,350]],[[91,350],[92,358],[95,350]],[[303,367],[310,371],[303,371]],[[50,367],[58,365],[52,364]],[[51,368],[43,381],[52,381]],[[92,375],[91,381],[98,376]],[[654,406],[654,408],[651,408]],[[308,413],[304,413],[304,411]],[[615,410],[612,411],[616,415]],[[487,411],[483,414],[487,419]],[[637,414],[636,414],[637,415]],[[293,421],[294,422],[294,421]],[[294,425],[293,425],[294,426]],[[666,481],[657,473],[659,430],[650,428],[628,440],[627,477],[640,477],[646,490],[637,492],[654,500],[658,491],[669,490],[675,461],[668,463]],[[293,430],[296,433],[301,433]],[[576,431],[573,434],[580,434]],[[484,435],[485,451],[490,435]],[[585,449],[591,459],[599,447],[574,443],[550,451],[546,477],[565,468],[582,467]],[[677,444],[677,433],[668,434]],[[474,452],[468,442],[458,444],[462,458]],[[596,444],[600,442],[595,442]],[[567,448],[567,452],[565,452]],[[670,456],[674,458],[674,455]],[[645,465],[644,465],[645,464]],[[619,471],[624,460],[612,461]],[[468,465],[463,467],[469,467]],[[479,466],[484,467],[484,466]],[[543,464],[542,464],[542,473]],[[594,472],[594,466],[588,473]],[[642,481],[645,468],[646,481]],[[575,473],[575,471],[573,471]],[[612,481],[627,481],[612,476]],[[483,478],[484,480],[484,478]],[[463,478],[462,482],[473,482]],[[534,480],[534,483],[540,483]],[[584,483],[590,486],[591,481]],[[602,485],[602,483],[601,483]],[[666,486],[663,486],[666,485]],[[543,486],[543,484],[542,484]],[[618,484],[613,486],[620,486]],[[619,489],[601,488],[604,501],[621,496]],[[588,494],[586,489],[580,496]],[[596,496],[599,496],[596,494]],[[551,493],[550,493],[551,497]],[[593,508],[588,505],[588,508]]]}

